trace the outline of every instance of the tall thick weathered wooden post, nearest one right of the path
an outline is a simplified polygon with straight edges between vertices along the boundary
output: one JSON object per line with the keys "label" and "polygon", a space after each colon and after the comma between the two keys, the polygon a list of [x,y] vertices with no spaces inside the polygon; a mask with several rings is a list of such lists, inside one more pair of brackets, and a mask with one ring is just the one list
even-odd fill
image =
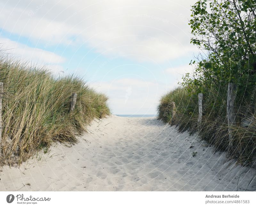
{"label": "tall thick weathered wooden post, nearest one right of the path", "polygon": [[227,119],[228,119],[228,153],[232,154],[233,150],[233,130],[232,126],[236,124],[236,114],[234,107],[236,85],[234,83],[228,84],[227,95]]}

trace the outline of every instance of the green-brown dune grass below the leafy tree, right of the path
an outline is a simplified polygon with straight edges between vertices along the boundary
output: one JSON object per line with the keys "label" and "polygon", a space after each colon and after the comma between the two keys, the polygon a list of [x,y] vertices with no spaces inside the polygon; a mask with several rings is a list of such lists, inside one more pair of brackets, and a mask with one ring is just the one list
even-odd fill
{"label": "green-brown dune grass below the leafy tree, right of the path", "polygon": [[[228,124],[227,124],[227,88],[206,89],[203,98],[203,117],[199,128],[198,97],[193,92],[187,92],[179,87],[162,96],[158,106],[158,118],[170,125],[175,125],[179,131],[198,133],[202,140],[216,150],[228,150]],[[250,97],[247,97],[250,98]],[[175,102],[175,117],[172,119],[172,102]],[[238,103],[239,101],[237,101]],[[236,125],[232,126],[234,146],[228,156],[235,158],[245,165],[255,164],[256,152],[256,119],[255,106],[242,101],[236,105]],[[248,110],[250,109],[250,110]],[[251,117],[249,126],[243,127],[244,117]]]}

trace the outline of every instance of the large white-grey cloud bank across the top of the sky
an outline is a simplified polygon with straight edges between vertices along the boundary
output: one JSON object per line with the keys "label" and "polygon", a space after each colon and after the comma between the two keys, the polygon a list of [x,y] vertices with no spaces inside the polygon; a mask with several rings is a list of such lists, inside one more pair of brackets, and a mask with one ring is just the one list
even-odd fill
{"label": "large white-grey cloud bank across the top of the sky", "polygon": [[105,55],[163,62],[196,52],[189,5],[196,0],[10,0],[0,3],[0,27],[44,42],[89,46]]}

